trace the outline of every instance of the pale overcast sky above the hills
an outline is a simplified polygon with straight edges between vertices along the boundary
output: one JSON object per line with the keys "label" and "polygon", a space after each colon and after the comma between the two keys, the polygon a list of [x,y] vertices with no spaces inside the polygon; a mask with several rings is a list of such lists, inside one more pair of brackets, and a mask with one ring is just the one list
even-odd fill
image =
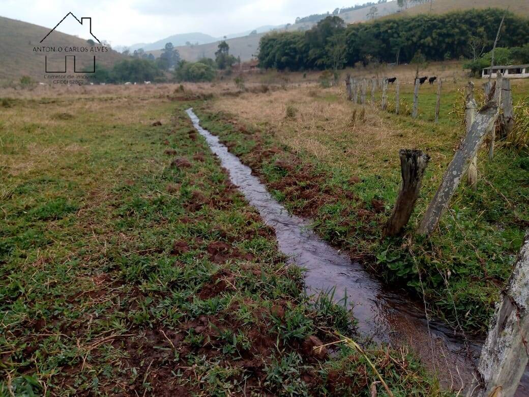
{"label": "pale overcast sky above the hills", "polygon": [[[92,31],[99,40],[129,46],[176,33],[222,37],[262,25],[294,23],[297,16],[332,12],[367,0],[339,1],[346,4],[329,0],[0,0],[0,16],[53,28],[71,11],[78,18],[92,17]],[[74,22],[61,24],[59,30],[89,38]]]}

